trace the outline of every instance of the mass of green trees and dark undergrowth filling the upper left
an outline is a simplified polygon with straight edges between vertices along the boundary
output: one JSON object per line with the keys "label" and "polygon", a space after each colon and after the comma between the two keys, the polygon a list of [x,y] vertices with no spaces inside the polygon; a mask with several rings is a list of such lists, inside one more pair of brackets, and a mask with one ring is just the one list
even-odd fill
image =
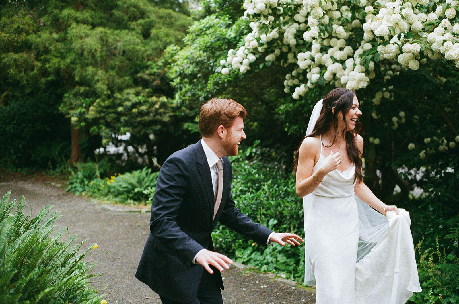
{"label": "mass of green trees and dark undergrowth filling the upper left", "polygon": [[56,157],[59,165],[69,159],[70,140],[72,160],[86,160],[126,132],[127,145],[152,164],[177,148],[176,133],[185,138],[183,122],[171,118],[186,115],[172,105],[168,81],[146,70],[181,43],[191,22],[186,3],[2,1],[0,15],[0,141],[10,144],[0,148],[2,166],[56,169]]}

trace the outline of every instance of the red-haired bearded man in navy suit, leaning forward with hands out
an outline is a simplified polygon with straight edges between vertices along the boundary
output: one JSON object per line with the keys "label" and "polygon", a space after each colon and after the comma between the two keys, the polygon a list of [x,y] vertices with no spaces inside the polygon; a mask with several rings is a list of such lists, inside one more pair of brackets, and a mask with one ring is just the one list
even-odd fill
{"label": "red-haired bearded man in navy suit, leaning forward with hands out", "polygon": [[151,204],[150,235],[135,277],[163,304],[222,304],[220,271],[232,261],[214,252],[217,222],[268,245],[300,245],[294,233],[275,233],[254,223],[231,198],[231,164],[246,138],[244,107],[213,98],[202,105],[202,139],[175,152],[162,165]]}

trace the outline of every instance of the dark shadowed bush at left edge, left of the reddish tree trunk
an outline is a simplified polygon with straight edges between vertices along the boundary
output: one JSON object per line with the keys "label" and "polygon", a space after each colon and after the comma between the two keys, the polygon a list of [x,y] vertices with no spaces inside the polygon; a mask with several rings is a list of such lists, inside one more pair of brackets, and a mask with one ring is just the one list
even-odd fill
{"label": "dark shadowed bush at left edge, left of the reddish tree trunk", "polygon": [[70,125],[57,110],[56,94],[15,96],[0,106],[0,166],[59,170],[65,164]]}

